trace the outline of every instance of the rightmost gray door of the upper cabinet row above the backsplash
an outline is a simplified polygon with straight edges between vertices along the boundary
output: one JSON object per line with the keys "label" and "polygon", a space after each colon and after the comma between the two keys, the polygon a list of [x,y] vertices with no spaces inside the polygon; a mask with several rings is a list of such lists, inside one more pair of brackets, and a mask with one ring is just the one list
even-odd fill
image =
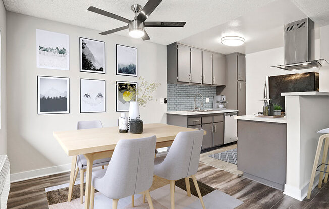
{"label": "rightmost gray door of the upper cabinet row above the backsplash", "polygon": [[212,84],[226,85],[226,57],[222,54],[212,54]]}

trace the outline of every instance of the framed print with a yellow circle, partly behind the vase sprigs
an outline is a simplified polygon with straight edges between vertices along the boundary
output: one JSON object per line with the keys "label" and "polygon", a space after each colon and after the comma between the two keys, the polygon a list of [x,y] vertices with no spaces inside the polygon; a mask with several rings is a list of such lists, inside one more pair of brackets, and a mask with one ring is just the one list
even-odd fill
{"label": "framed print with a yellow circle, partly behind the vase sprigs", "polygon": [[117,88],[117,105],[116,111],[129,111],[129,102],[130,101],[137,101],[137,94],[135,93],[135,97],[132,97],[131,93],[127,92],[127,84],[131,87],[135,87],[137,89],[137,83],[135,82],[116,82]]}

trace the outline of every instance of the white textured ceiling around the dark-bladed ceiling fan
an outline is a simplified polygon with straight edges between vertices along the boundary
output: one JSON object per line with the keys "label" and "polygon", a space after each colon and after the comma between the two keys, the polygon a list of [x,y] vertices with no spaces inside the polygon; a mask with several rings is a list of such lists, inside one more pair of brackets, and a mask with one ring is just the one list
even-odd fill
{"label": "white textured ceiling around the dark-bladed ceiling fan", "polygon": [[[163,0],[148,21],[186,21],[183,28],[147,28],[151,42],[170,44],[206,29],[226,23],[258,9],[273,0]],[[132,4],[144,6],[147,0],[3,0],[6,10],[86,28],[106,31],[125,23],[87,11],[98,7],[132,19]],[[218,32],[220,33],[220,32]],[[128,36],[128,30],[117,32]]]}

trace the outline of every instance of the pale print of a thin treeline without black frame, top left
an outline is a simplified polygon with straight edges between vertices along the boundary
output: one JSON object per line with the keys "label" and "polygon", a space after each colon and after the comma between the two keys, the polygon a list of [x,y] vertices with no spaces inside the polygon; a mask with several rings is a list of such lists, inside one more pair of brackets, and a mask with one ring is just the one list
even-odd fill
{"label": "pale print of a thin treeline without black frame, top left", "polygon": [[36,67],[69,70],[69,35],[36,29]]}

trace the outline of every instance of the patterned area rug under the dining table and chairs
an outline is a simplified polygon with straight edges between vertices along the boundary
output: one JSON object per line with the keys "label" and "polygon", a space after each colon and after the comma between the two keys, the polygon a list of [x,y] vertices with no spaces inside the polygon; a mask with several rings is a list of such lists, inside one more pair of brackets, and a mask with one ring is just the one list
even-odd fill
{"label": "patterned area rug under the dining table and chairs", "polygon": [[[78,182],[77,182],[78,183]],[[222,192],[216,190],[200,181],[198,181],[200,192],[207,209],[227,208],[233,209],[243,202]],[[175,208],[176,209],[199,209],[202,208],[192,179],[190,179],[191,197],[187,196],[185,180],[181,179],[175,182]],[[46,189],[49,209],[76,209],[84,208],[80,203],[80,185],[73,187],[72,201],[67,202],[68,196],[67,184]],[[97,191],[96,191],[97,192]],[[154,208],[168,209],[170,205],[170,188],[169,181],[155,176],[153,185],[150,189]],[[108,199],[101,193],[95,193],[95,209],[112,208],[112,199]],[[131,197],[120,199],[118,202],[119,209],[128,209],[131,207]],[[149,208],[148,203],[143,203],[143,196],[135,194],[135,207],[138,209]]]}

